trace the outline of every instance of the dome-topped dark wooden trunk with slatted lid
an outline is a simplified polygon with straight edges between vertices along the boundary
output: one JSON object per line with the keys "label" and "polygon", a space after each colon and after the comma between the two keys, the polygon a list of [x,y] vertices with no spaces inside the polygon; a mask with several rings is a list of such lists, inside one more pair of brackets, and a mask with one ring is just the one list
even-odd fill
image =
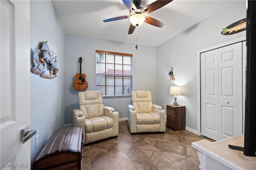
{"label": "dome-topped dark wooden trunk with slatted lid", "polygon": [[54,131],[33,162],[33,170],[81,170],[82,128],[62,127]]}

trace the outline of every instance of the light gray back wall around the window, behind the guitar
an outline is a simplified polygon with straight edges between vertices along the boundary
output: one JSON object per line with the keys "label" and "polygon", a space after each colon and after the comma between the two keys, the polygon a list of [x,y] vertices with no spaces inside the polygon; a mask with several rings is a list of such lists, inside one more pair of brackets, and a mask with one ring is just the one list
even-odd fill
{"label": "light gray back wall around the window, behind the guitar", "polygon": [[[135,38],[135,37],[134,37]],[[136,39],[134,39],[136,41]],[[96,90],[95,51],[113,51],[133,55],[133,90],[150,90],[152,101],[156,102],[156,48],[135,44],[96,39],[80,35],[65,34],[65,122],[72,123],[72,110],[79,108],[78,92],[72,84],[79,73],[79,57],[83,58],[82,73],[86,74],[87,90]],[[114,107],[119,118],[128,117],[131,98],[104,98],[105,106]]]}

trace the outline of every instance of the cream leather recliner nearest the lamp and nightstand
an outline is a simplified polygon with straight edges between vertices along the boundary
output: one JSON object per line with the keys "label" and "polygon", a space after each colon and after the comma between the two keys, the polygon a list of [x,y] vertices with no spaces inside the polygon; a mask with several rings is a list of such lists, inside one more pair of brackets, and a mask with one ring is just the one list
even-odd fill
{"label": "cream leather recliner nearest the lamp and nightstand", "polygon": [[151,92],[132,91],[132,105],[128,105],[128,125],[131,133],[165,132],[165,111],[152,104]]}

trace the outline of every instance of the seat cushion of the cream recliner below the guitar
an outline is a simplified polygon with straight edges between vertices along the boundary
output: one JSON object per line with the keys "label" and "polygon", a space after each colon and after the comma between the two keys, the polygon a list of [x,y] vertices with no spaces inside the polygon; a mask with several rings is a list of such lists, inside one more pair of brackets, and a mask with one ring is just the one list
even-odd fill
{"label": "seat cushion of the cream recliner below the guitar", "polygon": [[101,131],[113,127],[113,119],[108,116],[91,117],[86,119],[85,131],[86,133]]}

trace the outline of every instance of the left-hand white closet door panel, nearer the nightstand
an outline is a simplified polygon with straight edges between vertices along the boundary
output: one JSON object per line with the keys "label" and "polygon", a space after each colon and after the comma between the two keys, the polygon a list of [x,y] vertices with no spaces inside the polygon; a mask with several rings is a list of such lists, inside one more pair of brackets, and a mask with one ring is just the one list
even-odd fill
{"label": "left-hand white closet door panel, nearer the nightstand", "polygon": [[218,141],[218,50],[201,53],[201,134]]}

